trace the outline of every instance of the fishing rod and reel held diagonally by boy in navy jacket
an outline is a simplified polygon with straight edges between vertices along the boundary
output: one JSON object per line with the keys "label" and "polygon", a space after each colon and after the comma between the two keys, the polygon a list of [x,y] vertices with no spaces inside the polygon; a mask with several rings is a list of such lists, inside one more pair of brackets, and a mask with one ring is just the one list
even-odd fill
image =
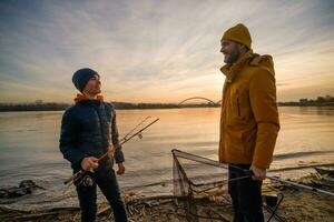
{"label": "fishing rod and reel held diagonally by boy in navy jacket", "polygon": [[[147,120],[148,118],[145,119],[145,121]],[[146,130],[147,128],[149,128],[150,125],[153,125],[154,123],[156,123],[157,121],[159,120],[159,118],[155,119],[154,121],[151,121],[150,123],[148,123],[147,125],[145,125],[144,128],[141,128],[140,130],[138,130],[136,133],[131,134],[129,137],[129,133],[127,134],[127,137],[129,138],[126,138],[124,137],[120,142],[118,143],[118,145],[116,145],[114,149],[109,149],[107,152],[105,152],[100,158],[98,158],[97,162],[104,160],[106,157],[108,157],[110,153],[112,153],[116,149],[120,148],[122,144],[125,144],[126,142],[128,142],[129,140],[131,140],[132,138],[135,138],[136,135],[138,135],[140,139],[143,138],[141,135],[141,132],[144,130]],[[138,125],[136,125],[136,128],[138,128],[143,122],[145,121],[141,121]],[[136,129],[135,128],[135,129]],[[134,130],[131,130],[132,132]],[[87,173],[88,171],[85,171],[85,170],[80,170],[79,172],[75,173],[73,175],[71,175],[69,179],[67,179],[63,184],[72,184],[79,180],[81,180],[84,178],[84,175]]]}

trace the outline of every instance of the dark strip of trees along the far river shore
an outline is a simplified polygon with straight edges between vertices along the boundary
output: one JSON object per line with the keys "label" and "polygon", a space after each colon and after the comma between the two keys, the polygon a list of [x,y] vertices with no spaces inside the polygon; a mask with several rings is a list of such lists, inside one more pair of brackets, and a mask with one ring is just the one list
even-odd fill
{"label": "dark strip of trees along the far river shore", "polygon": [[[180,109],[180,108],[218,108],[218,102],[206,103],[130,103],[111,101],[117,110],[144,110],[144,109]],[[63,111],[72,104],[43,102],[37,100],[36,102],[27,103],[0,103],[0,112],[12,111]],[[331,95],[318,97],[315,100],[299,99],[299,101],[277,102],[278,107],[334,107],[334,98]]]}

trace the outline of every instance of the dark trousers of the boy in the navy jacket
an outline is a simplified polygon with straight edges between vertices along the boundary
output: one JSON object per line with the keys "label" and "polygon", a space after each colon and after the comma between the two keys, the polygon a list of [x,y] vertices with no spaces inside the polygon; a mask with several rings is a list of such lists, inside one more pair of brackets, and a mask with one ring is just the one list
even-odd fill
{"label": "dark trousers of the boy in the navy jacket", "polygon": [[81,208],[81,222],[94,222],[97,213],[97,185],[109,201],[116,222],[127,222],[127,213],[120,196],[115,171],[110,164],[100,164],[95,173],[89,174],[94,183],[86,186],[77,185],[77,193]]}

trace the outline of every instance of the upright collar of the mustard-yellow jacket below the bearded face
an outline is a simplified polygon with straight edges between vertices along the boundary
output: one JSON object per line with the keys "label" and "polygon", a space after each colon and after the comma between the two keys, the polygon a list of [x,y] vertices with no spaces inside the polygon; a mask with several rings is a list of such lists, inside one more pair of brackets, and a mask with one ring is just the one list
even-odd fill
{"label": "upright collar of the mustard-yellow jacket below the bearded face", "polygon": [[235,77],[239,73],[239,71],[244,68],[244,64],[248,61],[253,56],[253,50],[248,50],[242,58],[239,58],[232,65],[225,64],[220,68],[220,71],[226,75],[226,81],[232,82]]}

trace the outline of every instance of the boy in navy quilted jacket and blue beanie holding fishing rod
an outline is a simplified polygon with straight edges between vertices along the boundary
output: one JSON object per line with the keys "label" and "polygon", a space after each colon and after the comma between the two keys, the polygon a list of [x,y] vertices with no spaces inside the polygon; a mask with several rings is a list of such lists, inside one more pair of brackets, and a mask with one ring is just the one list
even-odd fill
{"label": "boy in navy quilted jacket and blue beanie holding fishing rod", "polygon": [[76,184],[81,221],[91,222],[96,219],[98,185],[112,208],[116,222],[127,222],[125,204],[112,169],[114,159],[110,157],[98,162],[98,158],[108,149],[114,149],[117,173],[125,173],[116,112],[99,95],[101,82],[96,71],[80,69],[75,72],[72,82],[82,94],[77,95],[76,104],[68,108],[62,115],[59,148],[63,158],[70,161],[73,173],[80,170],[91,171],[88,173],[90,183]]}

